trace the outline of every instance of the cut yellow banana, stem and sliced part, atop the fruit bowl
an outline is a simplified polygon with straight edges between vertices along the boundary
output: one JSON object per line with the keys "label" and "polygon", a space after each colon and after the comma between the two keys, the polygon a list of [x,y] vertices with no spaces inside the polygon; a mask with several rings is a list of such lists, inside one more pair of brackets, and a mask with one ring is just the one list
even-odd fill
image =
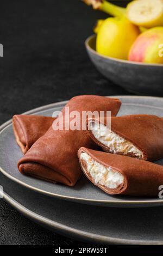
{"label": "cut yellow banana, stem and sliced part, atop the fruit bowl", "polygon": [[126,16],[141,31],[144,28],[163,26],[163,0],[135,0],[127,8],[118,7],[106,0],[83,0],[93,9],[102,10],[115,17]]}

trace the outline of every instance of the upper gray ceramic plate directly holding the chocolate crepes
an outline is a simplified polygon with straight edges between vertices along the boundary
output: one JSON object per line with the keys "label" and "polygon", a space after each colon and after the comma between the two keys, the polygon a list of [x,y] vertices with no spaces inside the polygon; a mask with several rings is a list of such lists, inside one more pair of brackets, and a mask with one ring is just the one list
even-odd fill
{"label": "upper gray ceramic plate directly holding the chocolate crepes", "polygon": [[[163,115],[163,99],[157,97],[139,96],[116,96],[122,101],[122,107],[118,115],[125,114],[155,114]],[[53,111],[61,109],[66,102],[54,103],[52,105],[40,107],[28,114],[52,115]],[[163,199],[159,198],[135,198],[127,196],[109,196],[98,187],[82,177],[74,187],[67,187],[60,184],[51,184],[39,179],[22,175],[17,170],[17,161],[22,157],[20,148],[17,146],[12,131],[11,121],[0,127],[0,164],[1,172],[8,178],[19,184],[47,194],[52,197],[71,200],[73,202],[116,206],[116,207],[145,207],[163,205]],[[163,164],[163,160],[158,161]]]}

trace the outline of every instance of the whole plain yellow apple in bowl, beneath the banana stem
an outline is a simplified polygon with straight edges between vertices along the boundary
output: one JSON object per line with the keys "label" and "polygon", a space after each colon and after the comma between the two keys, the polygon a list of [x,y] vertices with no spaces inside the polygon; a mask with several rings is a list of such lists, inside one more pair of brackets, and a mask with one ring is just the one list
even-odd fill
{"label": "whole plain yellow apple in bowl, beneath the banana stem", "polygon": [[127,59],[139,34],[139,28],[126,17],[109,17],[98,29],[96,50],[105,56]]}

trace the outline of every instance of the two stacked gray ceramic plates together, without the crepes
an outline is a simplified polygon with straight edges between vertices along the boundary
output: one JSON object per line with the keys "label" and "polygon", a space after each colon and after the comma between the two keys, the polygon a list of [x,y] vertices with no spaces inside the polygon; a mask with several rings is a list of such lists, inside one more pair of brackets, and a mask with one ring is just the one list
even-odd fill
{"label": "two stacked gray ceramic plates together, without the crepes", "polygon": [[[122,101],[118,115],[163,115],[162,98],[116,97]],[[65,104],[54,103],[26,114],[52,116]],[[3,198],[22,214],[77,240],[105,244],[163,244],[163,199],[109,196],[84,176],[74,187],[24,176],[17,170],[22,153],[16,144],[11,120],[3,124],[0,131]],[[157,163],[163,165],[163,160]]]}

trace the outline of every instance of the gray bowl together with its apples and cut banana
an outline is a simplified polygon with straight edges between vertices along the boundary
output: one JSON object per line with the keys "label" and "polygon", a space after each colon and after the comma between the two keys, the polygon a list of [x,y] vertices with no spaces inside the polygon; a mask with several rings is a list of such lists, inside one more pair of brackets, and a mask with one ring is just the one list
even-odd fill
{"label": "gray bowl together with its apples and cut banana", "polygon": [[98,71],[129,92],[163,95],[163,0],[135,0],[126,8],[84,2],[113,16],[98,20],[85,42]]}

